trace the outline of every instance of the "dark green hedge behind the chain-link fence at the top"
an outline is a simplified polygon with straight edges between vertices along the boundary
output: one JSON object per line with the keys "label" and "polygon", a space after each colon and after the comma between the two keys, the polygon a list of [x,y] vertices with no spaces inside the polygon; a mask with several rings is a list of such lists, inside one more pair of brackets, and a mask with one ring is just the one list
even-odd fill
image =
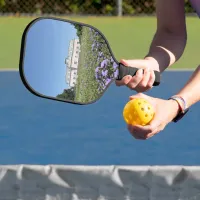
{"label": "dark green hedge behind the chain-link fence at the top", "polygon": [[[123,0],[122,7],[124,15],[152,14],[155,0]],[[188,0],[185,0],[185,10],[193,12]],[[0,0],[0,12],[116,15],[117,0]]]}

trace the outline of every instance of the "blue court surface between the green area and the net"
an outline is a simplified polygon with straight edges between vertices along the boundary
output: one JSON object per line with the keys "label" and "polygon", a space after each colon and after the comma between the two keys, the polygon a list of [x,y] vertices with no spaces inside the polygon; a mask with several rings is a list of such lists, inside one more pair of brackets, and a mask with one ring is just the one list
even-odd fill
{"label": "blue court surface between the green area and the net", "polygon": [[[168,98],[191,71],[165,72],[149,95]],[[41,99],[18,72],[0,73],[0,164],[199,165],[200,105],[147,141],[127,131],[122,110],[131,94],[113,83],[95,104]]]}

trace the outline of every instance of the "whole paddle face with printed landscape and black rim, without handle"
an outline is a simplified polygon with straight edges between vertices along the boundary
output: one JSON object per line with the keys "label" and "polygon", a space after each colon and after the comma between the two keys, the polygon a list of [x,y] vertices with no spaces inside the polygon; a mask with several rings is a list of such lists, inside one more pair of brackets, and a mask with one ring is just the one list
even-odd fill
{"label": "whole paddle face with printed landscape and black rim, without handle", "polygon": [[95,102],[117,78],[118,66],[105,37],[88,25],[38,18],[24,32],[20,75],[37,96]]}

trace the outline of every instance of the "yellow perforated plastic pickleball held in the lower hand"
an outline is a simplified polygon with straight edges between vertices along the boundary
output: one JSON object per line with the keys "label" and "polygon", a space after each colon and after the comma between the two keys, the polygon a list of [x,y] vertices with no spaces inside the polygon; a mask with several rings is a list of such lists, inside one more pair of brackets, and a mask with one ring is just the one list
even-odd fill
{"label": "yellow perforated plastic pickleball held in the lower hand", "polygon": [[127,124],[145,126],[155,114],[154,107],[143,98],[130,100],[124,107],[123,117]]}

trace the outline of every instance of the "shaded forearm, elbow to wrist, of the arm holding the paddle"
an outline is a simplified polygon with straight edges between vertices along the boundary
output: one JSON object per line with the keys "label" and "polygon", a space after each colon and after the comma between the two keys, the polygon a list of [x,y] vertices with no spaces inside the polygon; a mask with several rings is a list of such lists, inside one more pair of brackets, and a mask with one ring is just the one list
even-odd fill
{"label": "shaded forearm, elbow to wrist, of the arm holding the paddle", "polygon": [[182,56],[186,42],[186,31],[181,34],[157,31],[145,59],[156,60],[159,65],[159,71],[163,72]]}

